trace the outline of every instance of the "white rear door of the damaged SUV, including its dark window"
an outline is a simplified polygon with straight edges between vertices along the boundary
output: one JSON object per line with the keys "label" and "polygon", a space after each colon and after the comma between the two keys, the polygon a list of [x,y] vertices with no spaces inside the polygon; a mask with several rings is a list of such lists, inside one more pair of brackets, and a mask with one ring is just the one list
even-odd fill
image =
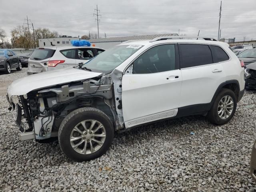
{"label": "white rear door of the damaged SUV, including its dark window", "polygon": [[210,103],[218,86],[226,80],[222,64],[214,61],[207,44],[179,44],[179,53],[180,107]]}

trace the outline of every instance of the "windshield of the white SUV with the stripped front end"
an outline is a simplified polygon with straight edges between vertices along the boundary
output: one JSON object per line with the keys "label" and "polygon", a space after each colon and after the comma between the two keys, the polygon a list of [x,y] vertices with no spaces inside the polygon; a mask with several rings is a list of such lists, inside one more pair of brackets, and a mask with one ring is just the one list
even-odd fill
{"label": "windshield of the white SUV with the stripped front end", "polygon": [[95,72],[112,72],[114,68],[119,66],[142,47],[142,45],[114,46],[85,63],[82,68],[86,67]]}

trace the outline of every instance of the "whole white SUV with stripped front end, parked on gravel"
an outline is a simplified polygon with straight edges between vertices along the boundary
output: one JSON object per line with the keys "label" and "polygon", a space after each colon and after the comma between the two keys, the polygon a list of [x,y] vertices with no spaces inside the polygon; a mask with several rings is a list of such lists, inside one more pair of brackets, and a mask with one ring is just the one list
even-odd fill
{"label": "whole white SUV with stripped front end, parked on gravel", "polygon": [[228,44],[204,39],[128,41],[80,67],[15,80],[7,100],[20,139],[58,136],[69,158],[84,161],[104,154],[114,132],[142,124],[195,114],[227,123],[244,94],[244,68]]}

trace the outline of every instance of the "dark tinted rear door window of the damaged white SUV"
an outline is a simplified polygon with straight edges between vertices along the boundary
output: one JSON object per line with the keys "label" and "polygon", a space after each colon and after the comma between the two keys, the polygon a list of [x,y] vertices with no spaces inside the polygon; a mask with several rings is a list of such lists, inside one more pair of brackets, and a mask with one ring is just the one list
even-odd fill
{"label": "dark tinted rear door window of the damaged white SUV", "polygon": [[179,44],[181,68],[212,64],[212,53],[208,45]]}

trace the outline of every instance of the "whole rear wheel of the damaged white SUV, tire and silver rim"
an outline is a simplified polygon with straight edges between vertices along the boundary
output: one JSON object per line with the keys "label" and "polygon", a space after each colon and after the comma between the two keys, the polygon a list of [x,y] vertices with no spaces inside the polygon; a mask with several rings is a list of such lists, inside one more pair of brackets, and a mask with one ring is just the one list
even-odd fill
{"label": "whole rear wheel of the damaged white SUV, tire and silver rim", "polygon": [[236,104],[237,98],[234,92],[230,89],[223,88],[207,114],[208,120],[217,125],[227,123],[236,112]]}

